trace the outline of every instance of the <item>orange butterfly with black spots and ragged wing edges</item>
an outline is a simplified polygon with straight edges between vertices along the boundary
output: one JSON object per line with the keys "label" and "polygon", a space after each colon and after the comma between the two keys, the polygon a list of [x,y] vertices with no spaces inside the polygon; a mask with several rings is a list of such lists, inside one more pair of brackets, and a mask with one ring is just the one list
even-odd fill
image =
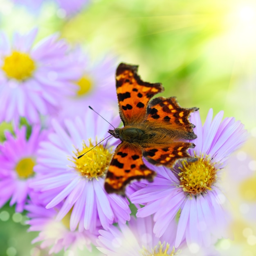
{"label": "orange butterfly with black spots and ragged wing edges", "polygon": [[164,88],[161,83],[148,83],[137,74],[137,65],[119,64],[116,89],[119,114],[123,128],[108,130],[121,140],[115,149],[105,179],[107,193],[125,195],[125,187],[132,180],[153,181],[143,157],[155,165],[173,167],[177,160],[195,161],[187,150],[195,144],[195,127],[189,121],[191,112],[198,108],[181,108],[175,97],[150,99]]}

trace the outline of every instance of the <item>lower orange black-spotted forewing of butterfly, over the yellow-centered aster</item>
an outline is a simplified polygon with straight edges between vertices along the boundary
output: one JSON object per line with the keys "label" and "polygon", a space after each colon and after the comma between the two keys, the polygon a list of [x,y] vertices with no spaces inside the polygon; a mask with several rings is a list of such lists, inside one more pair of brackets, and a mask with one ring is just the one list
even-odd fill
{"label": "lower orange black-spotted forewing of butterfly, over the yellow-centered aster", "polygon": [[141,148],[123,141],[115,150],[105,180],[108,193],[125,195],[125,187],[132,180],[152,181],[155,172],[142,161]]}

